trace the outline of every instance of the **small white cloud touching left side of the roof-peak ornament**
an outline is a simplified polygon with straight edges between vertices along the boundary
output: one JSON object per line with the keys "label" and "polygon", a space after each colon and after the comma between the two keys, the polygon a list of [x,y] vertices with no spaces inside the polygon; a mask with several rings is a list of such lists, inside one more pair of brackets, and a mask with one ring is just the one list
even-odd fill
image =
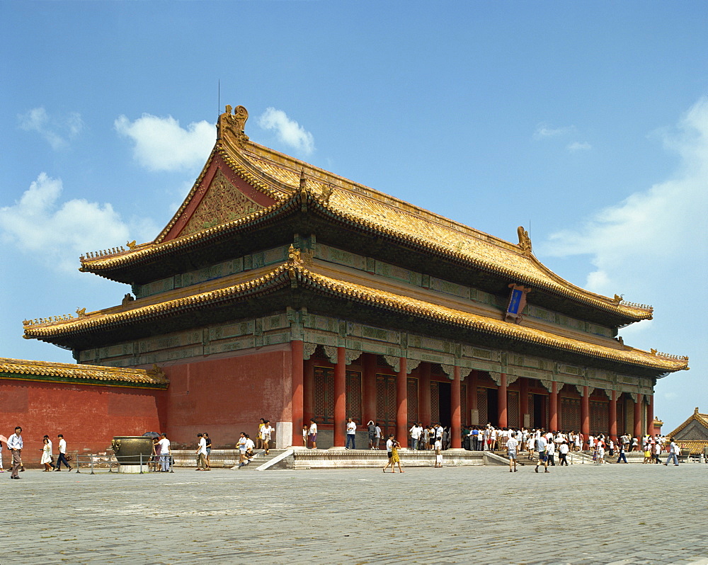
{"label": "small white cloud touching left side of the roof-peak ornament", "polygon": [[143,114],[131,122],[121,115],[115,130],[135,142],[133,156],[149,171],[184,171],[202,166],[214,146],[216,130],[202,120],[184,129],[172,116]]}

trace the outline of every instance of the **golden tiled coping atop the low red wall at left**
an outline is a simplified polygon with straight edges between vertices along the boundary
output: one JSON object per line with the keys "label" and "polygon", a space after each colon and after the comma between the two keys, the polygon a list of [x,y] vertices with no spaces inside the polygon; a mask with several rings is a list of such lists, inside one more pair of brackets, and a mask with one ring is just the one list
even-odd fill
{"label": "golden tiled coping atop the low red wall at left", "polygon": [[[169,380],[161,370],[125,369],[101,365],[75,365],[25,359],[0,358],[0,378],[31,378],[77,382],[78,384],[105,384],[107,386],[138,386],[165,389]],[[9,376],[8,375],[16,375]],[[84,382],[82,382],[84,381]]]}

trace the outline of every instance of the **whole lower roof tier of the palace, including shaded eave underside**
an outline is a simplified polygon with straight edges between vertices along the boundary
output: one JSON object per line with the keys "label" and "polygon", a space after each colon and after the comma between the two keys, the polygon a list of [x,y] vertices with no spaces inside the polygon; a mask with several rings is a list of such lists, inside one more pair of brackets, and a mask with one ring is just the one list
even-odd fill
{"label": "whole lower roof tier of the palace, including shaded eave underside", "polygon": [[[425,320],[431,327],[449,327],[463,330],[468,336],[479,335],[498,338],[505,342],[523,343],[527,346],[564,351],[586,358],[617,363],[624,367],[643,367],[657,372],[673,372],[688,368],[688,358],[661,353],[646,352],[605,340],[592,341],[589,337],[567,336],[528,325],[509,324],[495,317],[493,312],[465,309],[463,304],[439,300],[431,302],[425,296],[406,296],[395,288],[375,288],[362,275],[336,273],[326,266],[302,258],[299,251],[292,250],[290,259],[273,268],[263,268],[249,273],[239,273],[202,285],[185,287],[162,295],[137,299],[119,307],[81,313],[72,319],[57,319],[34,324],[25,324],[25,338],[72,346],[86,336],[100,336],[101,333],[115,331],[120,327],[137,328],[154,325],[158,320],[174,316],[184,316],[209,308],[222,308],[229,304],[253,302],[253,299],[287,292],[296,285],[299,289],[314,295],[331,299],[346,300],[361,304],[369,309],[393,314],[413,316]],[[471,307],[470,307],[471,308]],[[154,331],[152,332],[154,333]],[[620,369],[618,369],[620,370]]]}

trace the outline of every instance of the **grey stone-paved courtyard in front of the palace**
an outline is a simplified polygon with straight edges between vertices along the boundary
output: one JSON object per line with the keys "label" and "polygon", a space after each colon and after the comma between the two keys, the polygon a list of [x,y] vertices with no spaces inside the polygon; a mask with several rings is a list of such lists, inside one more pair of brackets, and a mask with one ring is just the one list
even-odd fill
{"label": "grey stone-paved courtyard in front of the palace", "polygon": [[2,565],[708,564],[708,464],[21,476]]}

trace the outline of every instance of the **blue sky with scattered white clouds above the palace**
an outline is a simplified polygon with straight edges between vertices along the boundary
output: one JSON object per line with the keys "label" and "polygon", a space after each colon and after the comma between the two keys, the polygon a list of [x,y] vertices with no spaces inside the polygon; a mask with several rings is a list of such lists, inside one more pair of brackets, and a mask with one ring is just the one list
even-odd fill
{"label": "blue sky with scattered white clouds above the palace", "polygon": [[670,431],[708,411],[707,31],[691,1],[4,1],[0,355],[72,361],[22,320],[118,304],[79,256],[154,239],[241,104],[256,142],[652,304],[621,335],[690,356]]}

